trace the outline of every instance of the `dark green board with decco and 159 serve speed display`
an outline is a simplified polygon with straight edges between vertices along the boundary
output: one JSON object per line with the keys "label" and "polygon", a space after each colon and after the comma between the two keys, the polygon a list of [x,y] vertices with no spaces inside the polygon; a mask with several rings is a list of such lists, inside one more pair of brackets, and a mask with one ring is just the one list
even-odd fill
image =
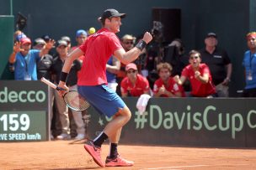
{"label": "dark green board with decco and 159 serve speed display", "polygon": [[0,81],[0,142],[46,141],[48,87],[40,81]]}

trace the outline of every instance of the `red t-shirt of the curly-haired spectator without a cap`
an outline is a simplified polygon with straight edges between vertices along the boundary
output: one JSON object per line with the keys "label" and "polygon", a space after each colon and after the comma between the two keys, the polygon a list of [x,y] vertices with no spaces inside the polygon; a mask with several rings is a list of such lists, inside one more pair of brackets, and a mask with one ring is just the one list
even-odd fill
{"label": "red t-shirt of the curly-haired spectator without a cap", "polygon": [[[153,92],[154,94],[157,94],[159,89],[162,87],[162,85],[165,87],[166,90],[168,90],[169,92],[173,93],[174,95],[177,94],[177,93],[181,93],[181,96],[185,96],[185,93],[184,93],[184,89],[181,85],[178,85],[172,77],[169,77],[168,79],[168,87],[166,85],[163,84],[163,80],[162,79],[157,79],[155,81],[155,84],[154,84],[154,89],[153,89]],[[168,97],[168,95],[161,95],[161,97]]]}

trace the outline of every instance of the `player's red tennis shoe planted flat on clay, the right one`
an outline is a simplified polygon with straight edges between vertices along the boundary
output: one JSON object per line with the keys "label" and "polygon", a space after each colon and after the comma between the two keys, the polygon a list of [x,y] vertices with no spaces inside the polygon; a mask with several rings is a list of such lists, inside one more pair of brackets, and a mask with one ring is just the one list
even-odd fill
{"label": "player's red tennis shoe planted flat on clay, the right one", "polygon": [[134,165],[134,162],[125,160],[124,158],[118,155],[116,158],[111,159],[110,157],[106,158],[106,167],[131,167]]}

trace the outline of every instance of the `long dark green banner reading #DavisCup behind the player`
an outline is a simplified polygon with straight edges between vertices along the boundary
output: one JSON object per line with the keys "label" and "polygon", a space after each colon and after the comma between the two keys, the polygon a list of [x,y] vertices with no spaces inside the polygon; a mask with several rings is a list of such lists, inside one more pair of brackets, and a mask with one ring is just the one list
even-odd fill
{"label": "long dark green banner reading #DavisCup behind the player", "polygon": [[[151,98],[140,115],[138,98],[125,98],[131,120],[120,142],[202,147],[256,147],[256,99]],[[89,137],[96,137],[110,121],[88,111]]]}

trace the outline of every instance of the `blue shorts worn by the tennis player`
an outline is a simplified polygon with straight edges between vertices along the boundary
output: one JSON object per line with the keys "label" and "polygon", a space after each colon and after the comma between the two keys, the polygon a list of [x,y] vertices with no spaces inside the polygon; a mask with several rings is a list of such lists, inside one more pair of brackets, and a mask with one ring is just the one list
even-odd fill
{"label": "blue shorts worn by the tennis player", "polygon": [[78,85],[77,90],[100,114],[108,117],[114,116],[126,106],[108,85]]}

